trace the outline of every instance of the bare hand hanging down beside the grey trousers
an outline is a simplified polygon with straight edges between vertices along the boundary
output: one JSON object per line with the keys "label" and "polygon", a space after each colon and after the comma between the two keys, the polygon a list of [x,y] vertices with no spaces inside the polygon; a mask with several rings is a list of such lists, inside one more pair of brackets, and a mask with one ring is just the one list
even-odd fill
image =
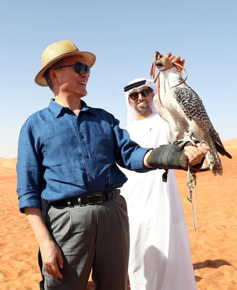
{"label": "bare hand hanging down beside the grey trousers", "polygon": [[63,257],[59,247],[52,239],[41,241],[39,244],[45,270],[54,278],[63,278],[59,268],[63,268]]}

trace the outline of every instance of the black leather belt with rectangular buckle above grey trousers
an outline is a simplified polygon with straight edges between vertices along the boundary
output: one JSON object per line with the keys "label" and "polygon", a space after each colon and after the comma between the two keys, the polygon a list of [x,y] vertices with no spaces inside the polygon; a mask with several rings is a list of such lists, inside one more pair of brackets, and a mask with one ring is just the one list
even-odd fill
{"label": "black leather belt with rectangular buckle above grey trousers", "polygon": [[100,203],[104,202],[106,200],[112,199],[115,196],[120,194],[120,189],[111,189],[108,191],[100,191],[100,192],[95,192],[90,195],[84,195],[84,196],[78,196],[78,197],[73,197],[69,199],[64,199],[64,200],[59,200],[57,202],[49,202],[50,205],[53,206],[59,206],[59,207],[71,207],[73,205],[86,205],[86,204],[95,204],[95,203]]}

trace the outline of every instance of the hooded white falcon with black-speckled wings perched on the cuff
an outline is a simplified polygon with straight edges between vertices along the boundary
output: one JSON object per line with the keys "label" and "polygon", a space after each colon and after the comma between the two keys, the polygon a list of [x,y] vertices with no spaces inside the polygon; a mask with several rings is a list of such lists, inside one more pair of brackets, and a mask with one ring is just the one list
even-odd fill
{"label": "hooded white falcon with black-speckled wings perched on the cuff", "polygon": [[[159,56],[159,58],[158,58]],[[173,142],[187,141],[195,146],[192,136],[210,147],[206,161],[214,175],[222,175],[223,169],[218,152],[222,156],[232,158],[225,150],[219,134],[215,131],[204,105],[196,92],[185,83],[182,78],[182,65],[172,63],[168,57],[155,52],[151,68],[151,77],[155,76],[155,67],[159,73],[158,94],[154,96],[154,106],[160,117],[169,123],[173,134]],[[186,72],[186,70],[185,70]],[[187,73],[187,72],[186,72]],[[187,75],[188,76],[188,75]],[[156,83],[156,80],[154,83]],[[185,136],[187,132],[187,136]]]}

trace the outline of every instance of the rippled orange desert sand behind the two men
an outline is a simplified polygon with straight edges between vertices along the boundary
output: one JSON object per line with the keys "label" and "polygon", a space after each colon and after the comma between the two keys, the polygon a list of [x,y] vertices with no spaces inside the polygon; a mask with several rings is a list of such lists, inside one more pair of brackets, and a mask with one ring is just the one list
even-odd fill
{"label": "rippled orange desert sand behind the two men", "polygon": [[[176,171],[194,274],[200,290],[237,289],[237,139],[223,143],[233,157],[232,160],[221,158],[223,176],[214,176],[210,171],[197,173],[196,232],[190,202],[186,198],[185,172]],[[39,289],[38,245],[26,216],[18,210],[16,161],[17,158],[0,158],[0,196],[3,205],[0,212],[0,284],[1,289]],[[87,289],[94,289],[91,277]]]}

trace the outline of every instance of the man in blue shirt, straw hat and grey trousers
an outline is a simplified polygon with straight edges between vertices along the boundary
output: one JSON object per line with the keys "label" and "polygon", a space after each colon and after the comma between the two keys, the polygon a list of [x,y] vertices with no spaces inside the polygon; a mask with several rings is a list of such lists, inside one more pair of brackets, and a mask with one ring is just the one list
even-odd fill
{"label": "man in blue shirt, straw hat and grey trousers", "polygon": [[[94,54],[69,40],[48,46],[35,82],[49,86],[55,99],[20,132],[19,208],[39,243],[45,289],[85,289],[91,268],[97,290],[126,288],[129,223],[118,187],[127,178],[116,163],[141,173],[154,169],[146,162],[151,148],[131,141],[113,115],[81,100],[94,63]],[[207,149],[188,146],[190,166]],[[48,201],[45,222],[40,196]]]}

